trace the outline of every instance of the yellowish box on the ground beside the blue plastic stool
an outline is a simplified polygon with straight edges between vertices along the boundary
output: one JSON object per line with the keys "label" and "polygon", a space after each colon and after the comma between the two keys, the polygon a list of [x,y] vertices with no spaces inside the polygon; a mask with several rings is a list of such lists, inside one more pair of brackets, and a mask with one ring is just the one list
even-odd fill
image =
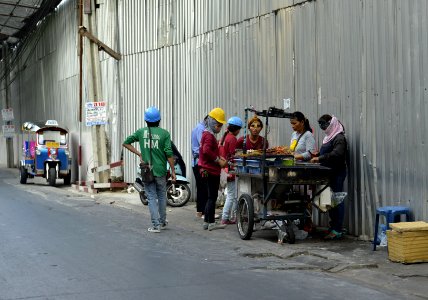
{"label": "yellowish box on the ground beside the blue plastic stool", "polygon": [[405,264],[428,262],[428,223],[400,222],[389,224],[388,256]]}

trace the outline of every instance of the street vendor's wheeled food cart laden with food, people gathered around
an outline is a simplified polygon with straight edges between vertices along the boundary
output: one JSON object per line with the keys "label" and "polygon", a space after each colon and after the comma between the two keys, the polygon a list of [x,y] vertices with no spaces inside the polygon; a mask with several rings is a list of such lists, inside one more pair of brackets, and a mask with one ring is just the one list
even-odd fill
{"label": "street vendor's wheeled food cart laden with food, people gathered around", "polygon": [[[292,114],[275,107],[263,111],[246,108],[246,121],[249,112],[265,118],[265,141],[269,118],[292,117]],[[260,151],[247,152],[245,143],[243,148],[243,152],[235,157],[238,177],[236,216],[241,239],[250,239],[253,231],[261,229],[269,221],[276,225],[279,243],[284,240],[294,243],[293,224],[302,225],[311,218],[306,206],[329,186],[330,169],[319,164],[295,162],[285,146],[266,149],[265,142]],[[311,189],[314,186],[319,188],[315,191]]]}

